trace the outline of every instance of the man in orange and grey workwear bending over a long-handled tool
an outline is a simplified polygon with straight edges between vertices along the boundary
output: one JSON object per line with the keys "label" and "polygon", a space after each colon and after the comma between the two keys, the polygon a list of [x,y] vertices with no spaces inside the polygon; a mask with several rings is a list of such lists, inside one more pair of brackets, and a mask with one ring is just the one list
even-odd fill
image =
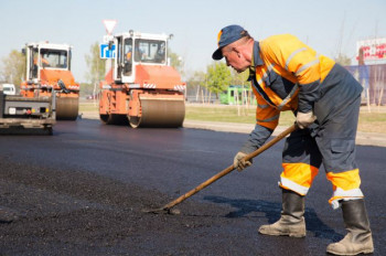
{"label": "man in orange and grey workwear bending over a long-handled tool", "polygon": [[305,236],[304,196],[323,163],[332,182],[333,209],[342,207],[346,236],[326,248],[335,255],[374,252],[360,170],[355,135],[362,86],[341,65],[318,54],[290,34],[255,41],[239,25],[222,29],[214,60],[225,57],[238,73],[249,70],[257,98],[256,127],[234,159],[239,171],[253,162],[244,157],[258,149],[278,125],[280,111],[291,110],[300,129],[286,140],[279,186],[282,211],[278,222],[262,225],[265,235]]}

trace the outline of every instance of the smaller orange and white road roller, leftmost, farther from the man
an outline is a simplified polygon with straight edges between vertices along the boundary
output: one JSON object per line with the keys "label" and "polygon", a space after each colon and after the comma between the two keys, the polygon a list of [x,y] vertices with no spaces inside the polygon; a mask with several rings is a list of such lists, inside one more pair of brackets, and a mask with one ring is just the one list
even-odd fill
{"label": "smaller orange and white road roller, leftmost, farther from the man", "polygon": [[50,42],[28,43],[22,50],[26,61],[23,97],[56,97],[56,119],[76,120],[79,108],[79,84],[71,72],[72,46]]}

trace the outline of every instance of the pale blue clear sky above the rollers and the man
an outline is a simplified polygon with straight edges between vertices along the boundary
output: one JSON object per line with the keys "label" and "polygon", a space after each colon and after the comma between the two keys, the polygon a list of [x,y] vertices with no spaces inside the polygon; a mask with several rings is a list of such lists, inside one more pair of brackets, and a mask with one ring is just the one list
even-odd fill
{"label": "pale blue clear sky above the rollers and the man", "polygon": [[357,40],[386,38],[385,0],[0,0],[0,60],[26,42],[68,43],[78,82],[86,82],[85,54],[106,34],[104,19],[118,21],[114,33],[173,33],[170,47],[187,74],[212,63],[217,32],[228,24],[256,40],[292,33],[331,57],[354,57]]}

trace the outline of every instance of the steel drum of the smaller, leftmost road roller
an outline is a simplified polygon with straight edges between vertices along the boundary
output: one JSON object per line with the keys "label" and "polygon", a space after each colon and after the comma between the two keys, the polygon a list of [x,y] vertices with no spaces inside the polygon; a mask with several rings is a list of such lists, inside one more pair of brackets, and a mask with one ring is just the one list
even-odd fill
{"label": "steel drum of the smaller, leftmost road roller", "polygon": [[56,98],[56,119],[76,120],[79,109],[78,97],[57,97]]}

